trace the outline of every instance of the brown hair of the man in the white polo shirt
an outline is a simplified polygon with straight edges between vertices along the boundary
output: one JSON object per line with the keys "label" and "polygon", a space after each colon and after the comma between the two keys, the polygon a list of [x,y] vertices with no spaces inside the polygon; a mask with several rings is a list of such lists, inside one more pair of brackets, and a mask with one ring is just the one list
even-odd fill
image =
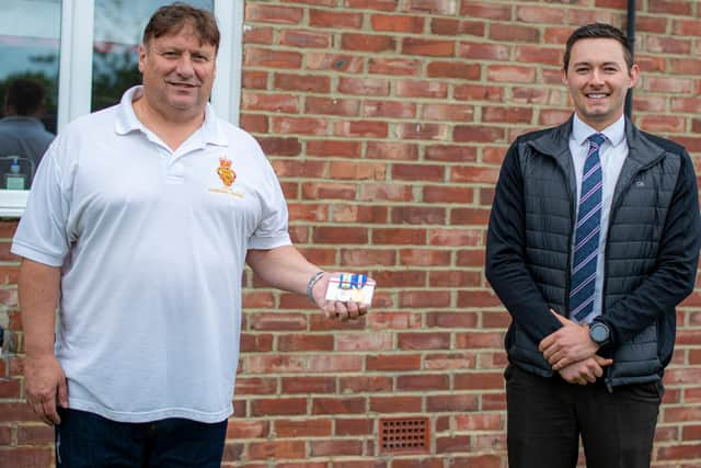
{"label": "brown hair of the man in the white polo shirt", "polygon": [[195,28],[203,43],[211,44],[216,50],[219,50],[221,34],[214,14],[208,10],[183,2],[175,2],[156,10],[143,30],[143,45],[148,46],[152,38],[176,34],[187,24]]}

